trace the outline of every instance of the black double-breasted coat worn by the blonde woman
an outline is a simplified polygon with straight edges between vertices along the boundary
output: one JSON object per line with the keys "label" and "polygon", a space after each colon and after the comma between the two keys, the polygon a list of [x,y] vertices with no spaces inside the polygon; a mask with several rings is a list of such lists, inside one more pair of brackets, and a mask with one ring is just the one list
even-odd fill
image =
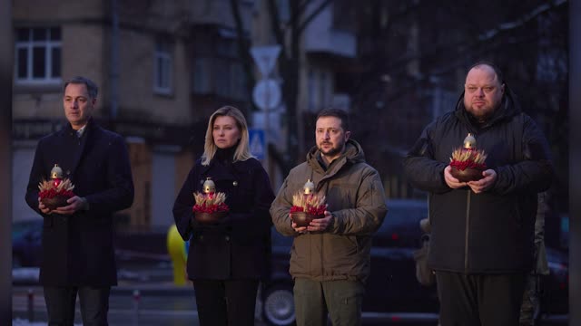
{"label": "black double-breasted coat worn by the blonde woman", "polygon": [[[194,192],[202,192],[206,177],[226,194],[230,213],[218,225],[191,224]],[[198,160],[183,183],[173,217],[184,240],[190,239],[187,271],[190,279],[261,279],[269,274],[271,182],[255,158],[234,163]]]}

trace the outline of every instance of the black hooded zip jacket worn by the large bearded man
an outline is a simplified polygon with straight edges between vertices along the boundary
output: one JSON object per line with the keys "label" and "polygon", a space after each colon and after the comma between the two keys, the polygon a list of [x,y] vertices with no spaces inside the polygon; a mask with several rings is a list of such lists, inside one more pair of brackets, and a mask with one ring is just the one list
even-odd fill
{"label": "black hooded zip jacket worn by the large bearded man", "polygon": [[[444,180],[452,150],[472,133],[497,173],[487,191],[452,189]],[[500,107],[480,126],[460,96],[456,110],[431,122],[404,159],[412,186],[428,191],[428,264],[453,273],[522,273],[533,262],[537,193],[553,178],[547,139],[506,86]]]}

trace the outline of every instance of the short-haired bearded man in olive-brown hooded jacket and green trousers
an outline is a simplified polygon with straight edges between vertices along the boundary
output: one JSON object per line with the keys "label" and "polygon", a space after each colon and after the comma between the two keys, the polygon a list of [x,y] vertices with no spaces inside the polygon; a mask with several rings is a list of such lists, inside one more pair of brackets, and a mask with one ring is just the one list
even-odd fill
{"label": "short-haired bearded man in olive-brown hooded jacket and green trousers", "polygon": [[[369,276],[371,236],[387,213],[378,171],[365,163],[350,139],[347,114],[323,110],[317,117],[317,146],[284,180],[271,206],[282,235],[294,237],[290,273],[297,325],[359,325],[364,283]],[[292,223],[292,196],[310,179],[326,196],[323,218],[309,226]]]}

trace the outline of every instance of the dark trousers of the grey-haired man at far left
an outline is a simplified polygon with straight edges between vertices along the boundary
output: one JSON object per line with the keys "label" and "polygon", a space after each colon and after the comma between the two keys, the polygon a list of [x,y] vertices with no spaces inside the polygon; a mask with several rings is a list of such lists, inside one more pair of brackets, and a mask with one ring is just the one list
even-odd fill
{"label": "dark trousers of the grey-haired man at far left", "polygon": [[111,287],[44,286],[49,326],[73,326],[76,295],[84,326],[107,326]]}

